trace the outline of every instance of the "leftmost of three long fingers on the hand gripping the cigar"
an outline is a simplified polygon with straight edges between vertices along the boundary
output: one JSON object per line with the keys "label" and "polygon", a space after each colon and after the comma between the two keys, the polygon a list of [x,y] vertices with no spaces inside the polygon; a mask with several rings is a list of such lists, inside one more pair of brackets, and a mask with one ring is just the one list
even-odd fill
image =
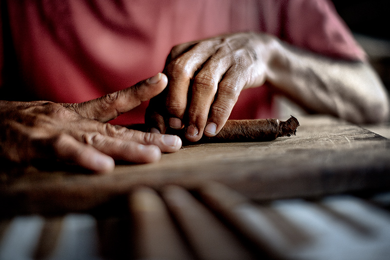
{"label": "leftmost of three long fingers on the hand gripping the cigar", "polygon": [[166,98],[168,124],[171,128],[183,126],[183,116],[187,108],[187,96],[191,80],[206,60],[215,52],[211,41],[196,43],[191,50],[172,60],[165,68],[169,80]]}

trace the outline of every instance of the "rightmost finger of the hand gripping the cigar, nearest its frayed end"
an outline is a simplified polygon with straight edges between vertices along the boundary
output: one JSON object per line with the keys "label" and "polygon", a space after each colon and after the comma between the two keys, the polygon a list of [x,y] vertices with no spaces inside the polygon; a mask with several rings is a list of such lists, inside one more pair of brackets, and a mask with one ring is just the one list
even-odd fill
{"label": "rightmost finger of the hand gripping the cigar, nearest its frayed end", "polygon": [[211,106],[209,120],[204,129],[204,134],[208,137],[215,136],[225,125],[230,113],[233,110],[239,93],[246,84],[248,75],[245,70],[232,66],[219,82],[218,93]]}

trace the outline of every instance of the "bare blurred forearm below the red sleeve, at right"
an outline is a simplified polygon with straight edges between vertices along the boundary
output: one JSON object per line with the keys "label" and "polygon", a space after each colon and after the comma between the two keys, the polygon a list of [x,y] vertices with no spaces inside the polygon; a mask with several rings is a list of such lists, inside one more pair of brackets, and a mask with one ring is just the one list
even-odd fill
{"label": "bare blurred forearm below the red sleeve, at right", "polygon": [[266,80],[311,112],[355,123],[389,119],[387,92],[368,63],[334,60],[274,40]]}

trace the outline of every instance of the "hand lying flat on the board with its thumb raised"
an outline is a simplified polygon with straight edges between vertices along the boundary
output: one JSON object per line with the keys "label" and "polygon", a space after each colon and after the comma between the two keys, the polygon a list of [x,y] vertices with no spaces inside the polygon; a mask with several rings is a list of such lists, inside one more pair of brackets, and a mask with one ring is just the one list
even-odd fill
{"label": "hand lying flat on the board with its thumb raised", "polygon": [[105,123],[167,85],[164,74],[84,103],[0,101],[0,156],[16,162],[53,159],[93,171],[113,170],[113,159],[145,163],[180,149],[177,136],[143,133]]}

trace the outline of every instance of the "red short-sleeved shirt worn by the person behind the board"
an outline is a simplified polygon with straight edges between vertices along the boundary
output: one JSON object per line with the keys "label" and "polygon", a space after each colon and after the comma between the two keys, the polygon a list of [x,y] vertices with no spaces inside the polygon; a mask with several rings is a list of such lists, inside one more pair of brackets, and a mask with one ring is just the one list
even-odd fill
{"label": "red short-sleeved shirt worn by the person behind the board", "polygon": [[[239,31],[265,32],[335,58],[365,59],[328,0],[7,3],[20,75],[41,100],[96,99],[162,71],[178,43]],[[2,60],[0,65],[7,66]],[[272,97],[267,86],[243,91],[231,118],[272,117]],[[143,122],[146,106],[115,123]]]}

